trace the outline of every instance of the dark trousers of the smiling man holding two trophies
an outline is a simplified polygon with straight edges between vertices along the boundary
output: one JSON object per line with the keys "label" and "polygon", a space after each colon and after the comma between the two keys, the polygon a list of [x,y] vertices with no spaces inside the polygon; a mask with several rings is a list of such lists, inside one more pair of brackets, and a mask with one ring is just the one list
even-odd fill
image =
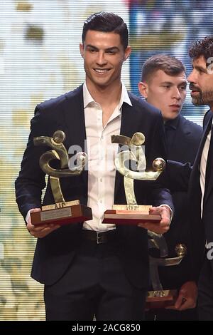
{"label": "dark trousers of the smiling man holding two trophies", "polygon": [[126,279],[116,241],[82,240],[65,275],[45,286],[47,320],[143,320],[146,290]]}

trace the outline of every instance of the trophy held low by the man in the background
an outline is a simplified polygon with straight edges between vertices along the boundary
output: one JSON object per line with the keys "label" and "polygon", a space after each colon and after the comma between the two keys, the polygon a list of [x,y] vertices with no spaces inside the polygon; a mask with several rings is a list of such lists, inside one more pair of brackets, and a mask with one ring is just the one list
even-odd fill
{"label": "trophy held low by the man in the background", "polygon": [[[153,237],[155,239],[155,237]],[[153,239],[148,240],[149,248],[157,247],[160,250],[160,244]],[[162,236],[162,239],[165,239]],[[158,267],[170,267],[174,265],[180,264],[183,257],[187,252],[187,248],[185,244],[178,244],[175,247],[175,252],[178,257],[173,258],[161,258],[163,256],[164,250],[160,250],[160,258],[155,258],[149,256],[149,267],[150,267],[150,275],[151,275],[151,284],[153,287],[153,291],[148,292],[148,296],[146,298],[146,308],[147,309],[158,309],[165,308],[166,306],[173,306],[178,297],[177,289],[163,289],[162,284],[160,283],[160,277],[158,274]]]}

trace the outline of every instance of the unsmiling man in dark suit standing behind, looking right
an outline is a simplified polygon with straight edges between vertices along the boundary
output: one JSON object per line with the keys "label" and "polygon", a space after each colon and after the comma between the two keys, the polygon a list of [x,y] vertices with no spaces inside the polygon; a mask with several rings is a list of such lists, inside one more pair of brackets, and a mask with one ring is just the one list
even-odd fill
{"label": "unsmiling man in dark suit standing behind, looking right", "polygon": [[[168,160],[193,164],[200,144],[202,128],[180,115],[186,96],[186,87],[185,66],[178,58],[158,54],[148,58],[144,63],[138,88],[148,103],[161,110],[165,125]],[[168,188],[172,190],[175,215],[170,230],[164,234],[164,237],[168,244],[168,257],[175,257],[175,246],[177,244],[183,243],[187,246],[187,249],[190,248],[187,192],[178,190],[173,182],[169,183]],[[163,288],[178,289],[179,295],[173,310],[149,311],[146,314],[146,319],[197,319],[195,309],[197,286],[192,280],[189,269],[189,252],[178,266],[159,267],[160,282]]]}

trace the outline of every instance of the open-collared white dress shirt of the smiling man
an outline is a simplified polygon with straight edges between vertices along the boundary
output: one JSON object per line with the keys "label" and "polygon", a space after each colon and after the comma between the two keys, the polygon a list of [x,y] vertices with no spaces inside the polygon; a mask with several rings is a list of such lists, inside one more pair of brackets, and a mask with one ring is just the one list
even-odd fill
{"label": "open-collared white dress shirt of the smiling man", "polygon": [[84,116],[87,134],[88,150],[88,200],[87,206],[92,208],[93,219],[85,221],[83,229],[106,232],[115,225],[102,224],[105,210],[111,210],[114,205],[114,184],[116,168],[114,158],[118,144],[111,143],[111,135],[119,135],[121,129],[121,113],[123,103],[131,104],[131,100],[122,84],[121,99],[107,124],[103,128],[102,106],[96,103],[83,86]]}

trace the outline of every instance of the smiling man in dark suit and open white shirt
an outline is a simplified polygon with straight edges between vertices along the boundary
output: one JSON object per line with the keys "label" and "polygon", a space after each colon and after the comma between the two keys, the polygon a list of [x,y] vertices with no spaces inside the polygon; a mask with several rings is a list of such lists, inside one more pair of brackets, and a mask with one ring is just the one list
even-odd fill
{"label": "smiling man in dark suit and open white shirt", "polygon": [[[31,134],[16,180],[16,199],[28,231],[38,237],[32,277],[45,284],[48,320],[143,319],[148,287],[147,230],[168,231],[172,199],[159,182],[136,180],[138,203],[152,204],[151,212],[162,220],[153,224],[116,227],[102,225],[102,215],[111,205],[125,204],[124,182],[115,171],[111,135],[142,132],[147,169],[157,157],[165,158],[163,120],[158,110],[128,94],[121,84],[121,67],[129,57],[128,30],[123,19],[97,13],[84,23],[80,53],[86,81],[70,93],[35,108]],[[87,141],[88,171],[61,180],[65,200],[80,199],[92,207],[93,220],[60,227],[31,224],[30,213],[41,207],[45,174],[38,161],[48,148],[35,147],[35,136],[67,135],[65,147]],[[116,151],[117,151],[116,146]],[[111,161],[109,161],[111,159]],[[111,168],[107,168],[111,163]],[[43,204],[52,204],[50,183]]]}

